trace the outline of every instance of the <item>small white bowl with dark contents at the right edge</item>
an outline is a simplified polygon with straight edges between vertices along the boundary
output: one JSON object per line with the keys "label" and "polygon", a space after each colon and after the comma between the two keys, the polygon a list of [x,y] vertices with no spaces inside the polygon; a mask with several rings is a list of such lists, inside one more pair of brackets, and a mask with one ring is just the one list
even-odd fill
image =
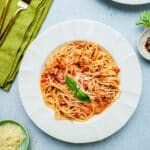
{"label": "small white bowl with dark contents at the right edge", "polygon": [[150,28],[146,28],[144,32],[141,34],[137,42],[137,48],[142,57],[150,61],[150,52],[148,52],[147,49],[145,48],[145,43],[148,37],[150,37]]}

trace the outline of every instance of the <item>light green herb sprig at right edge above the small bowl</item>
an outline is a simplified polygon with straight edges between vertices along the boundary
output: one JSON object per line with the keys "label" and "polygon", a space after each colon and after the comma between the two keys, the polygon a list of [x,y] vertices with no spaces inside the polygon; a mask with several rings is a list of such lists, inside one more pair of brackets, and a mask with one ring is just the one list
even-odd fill
{"label": "light green herb sprig at right edge above the small bowl", "polygon": [[142,12],[140,19],[136,22],[136,25],[141,24],[143,24],[145,27],[150,27],[150,12]]}

